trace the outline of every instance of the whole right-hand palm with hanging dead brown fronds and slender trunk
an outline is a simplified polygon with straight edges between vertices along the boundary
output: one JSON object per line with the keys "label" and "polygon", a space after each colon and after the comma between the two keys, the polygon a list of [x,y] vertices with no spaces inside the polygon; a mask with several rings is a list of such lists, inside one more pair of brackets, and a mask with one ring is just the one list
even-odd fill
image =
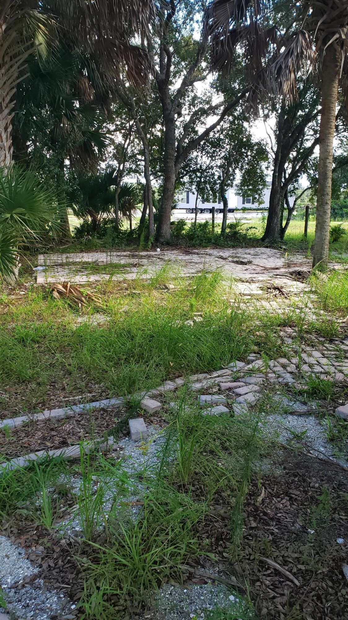
{"label": "whole right-hand palm with hanging dead brown fronds and slender trunk", "polygon": [[[277,6],[273,8],[277,10]],[[254,71],[250,91],[254,106],[262,92],[277,91],[291,102],[297,94],[297,75],[315,66],[318,70],[321,121],[315,267],[328,259],[333,138],[339,81],[348,47],[348,2],[285,4],[277,21],[285,24],[280,36],[270,27],[269,4],[263,0],[213,0],[206,12],[206,32],[212,40],[212,65],[219,70],[230,69],[237,45],[245,48],[246,64]],[[342,81],[348,101],[346,84]]]}

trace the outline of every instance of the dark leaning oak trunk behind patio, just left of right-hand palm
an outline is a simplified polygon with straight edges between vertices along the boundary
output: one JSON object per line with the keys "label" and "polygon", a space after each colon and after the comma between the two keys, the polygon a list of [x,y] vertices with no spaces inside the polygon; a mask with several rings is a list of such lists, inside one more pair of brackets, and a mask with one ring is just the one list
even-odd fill
{"label": "dark leaning oak trunk behind patio, just left of right-hand palm", "polygon": [[284,127],[285,110],[281,109],[278,118],[277,129],[277,148],[274,155],[274,166],[272,173],[271,193],[269,194],[269,210],[262,240],[270,243],[279,243],[279,223],[281,217],[281,207],[284,204],[284,193],[282,190],[283,170],[281,164],[281,152],[283,143],[283,127]]}

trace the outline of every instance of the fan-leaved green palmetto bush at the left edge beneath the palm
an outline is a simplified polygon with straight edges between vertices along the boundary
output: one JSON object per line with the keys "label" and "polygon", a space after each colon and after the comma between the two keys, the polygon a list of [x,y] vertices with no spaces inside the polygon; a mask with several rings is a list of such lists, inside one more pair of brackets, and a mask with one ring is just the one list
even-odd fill
{"label": "fan-leaved green palmetto bush at the left edge beneath the palm", "polygon": [[54,194],[32,170],[12,166],[0,175],[0,276],[14,282],[20,251],[59,230]]}

